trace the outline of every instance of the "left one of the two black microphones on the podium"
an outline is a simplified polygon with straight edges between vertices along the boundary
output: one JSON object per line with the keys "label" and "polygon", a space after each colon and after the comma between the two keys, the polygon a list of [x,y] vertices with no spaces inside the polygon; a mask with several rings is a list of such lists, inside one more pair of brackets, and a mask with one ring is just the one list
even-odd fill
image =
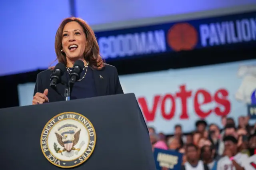
{"label": "left one of the two black microphones on the podium", "polygon": [[63,63],[58,63],[55,67],[54,70],[52,72],[52,74],[50,75],[50,87],[52,88],[56,88],[56,85],[58,83],[61,83],[61,76],[64,74],[64,72],[66,71],[66,66]]}

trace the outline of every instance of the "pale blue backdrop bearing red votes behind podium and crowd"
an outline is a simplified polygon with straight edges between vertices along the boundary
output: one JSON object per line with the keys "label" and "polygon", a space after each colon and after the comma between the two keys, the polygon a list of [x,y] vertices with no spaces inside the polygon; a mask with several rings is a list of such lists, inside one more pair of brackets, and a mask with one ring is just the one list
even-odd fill
{"label": "pale blue backdrop bearing red votes behind podium and crowd", "polygon": [[[237,121],[256,89],[256,60],[120,76],[125,93],[135,93],[148,125],[190,132],[198,119],[221,127],[221,116]],[[19,85],[20,105],[30,105],[34,85]],[[251,120],[250,123],[255,121]]]}

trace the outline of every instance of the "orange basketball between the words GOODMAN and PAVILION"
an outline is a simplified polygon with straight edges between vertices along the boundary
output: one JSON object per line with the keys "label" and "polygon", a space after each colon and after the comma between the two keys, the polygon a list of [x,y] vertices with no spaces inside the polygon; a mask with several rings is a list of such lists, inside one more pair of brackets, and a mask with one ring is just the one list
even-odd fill
{"label": "orange basketball between the words GOODMAN and PAVILION", "polygon": [[174,24],[168,31],[167,42],[174,51],[192,50],[198,42],[198,34],[188,23]]}

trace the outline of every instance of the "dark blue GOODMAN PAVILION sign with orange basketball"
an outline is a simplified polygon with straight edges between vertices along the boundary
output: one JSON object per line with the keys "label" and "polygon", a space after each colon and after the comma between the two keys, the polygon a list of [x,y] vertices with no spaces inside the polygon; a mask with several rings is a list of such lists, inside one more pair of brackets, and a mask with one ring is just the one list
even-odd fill
{"label": "dark blue GOODMAN PAVILION sign with orange basketball", "polygon": [[256,12],[96,32],[105,59],[256,42]]}

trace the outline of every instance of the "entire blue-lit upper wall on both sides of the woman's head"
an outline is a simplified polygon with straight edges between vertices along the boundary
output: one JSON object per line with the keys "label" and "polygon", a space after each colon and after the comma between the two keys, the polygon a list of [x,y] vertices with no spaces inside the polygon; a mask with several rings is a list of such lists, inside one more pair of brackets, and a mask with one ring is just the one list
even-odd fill
{"label": "entire blue-lit upper wall on both sides of the woman's head", "polygon": [[[112,30],[124,25],[138,27],[144,18],[146,25],[158,21],[157,17],[189,14],[204,11],[195,17],[192,14],[176,21],[209,17],[208,10],[218,9],[214,16],[224,15],[227,8],[234,10],[229,14],[244,12],[247,8],[256,9],[255,0],[72,0],[78,17],[93,25],[94,30]],[[251,4],[251,5],[250,5]],[[254,5],[253,5],[254,4]],[[250,5],[250,6],[249,6]],[[245,7],[246,6],[246,9]],[[252,10],[250,9],[250,10]],[[0,76],[35,71],[47,68],[56,59],[54,38],[60,22],[70,16],[70,0],[1,0],[0,16]],[[191,18],[190,18],[191,19]],[[130,20],[130,22],[128,22]],[[163,20],[162,20],[163,22]],[[170,22],[166,18],[163,23]],[[218,22],[218,21],[217,21]],[[104,25],[106,24],[107,25]],[[104,25],[97,27],[97,25]],[[145,24],[145,23],[144,23]],[[113,27],[114,26],[114,27]],[[102,30],[103,29],[103,30]],[[224,31],[225,32],[225,31]]]}

